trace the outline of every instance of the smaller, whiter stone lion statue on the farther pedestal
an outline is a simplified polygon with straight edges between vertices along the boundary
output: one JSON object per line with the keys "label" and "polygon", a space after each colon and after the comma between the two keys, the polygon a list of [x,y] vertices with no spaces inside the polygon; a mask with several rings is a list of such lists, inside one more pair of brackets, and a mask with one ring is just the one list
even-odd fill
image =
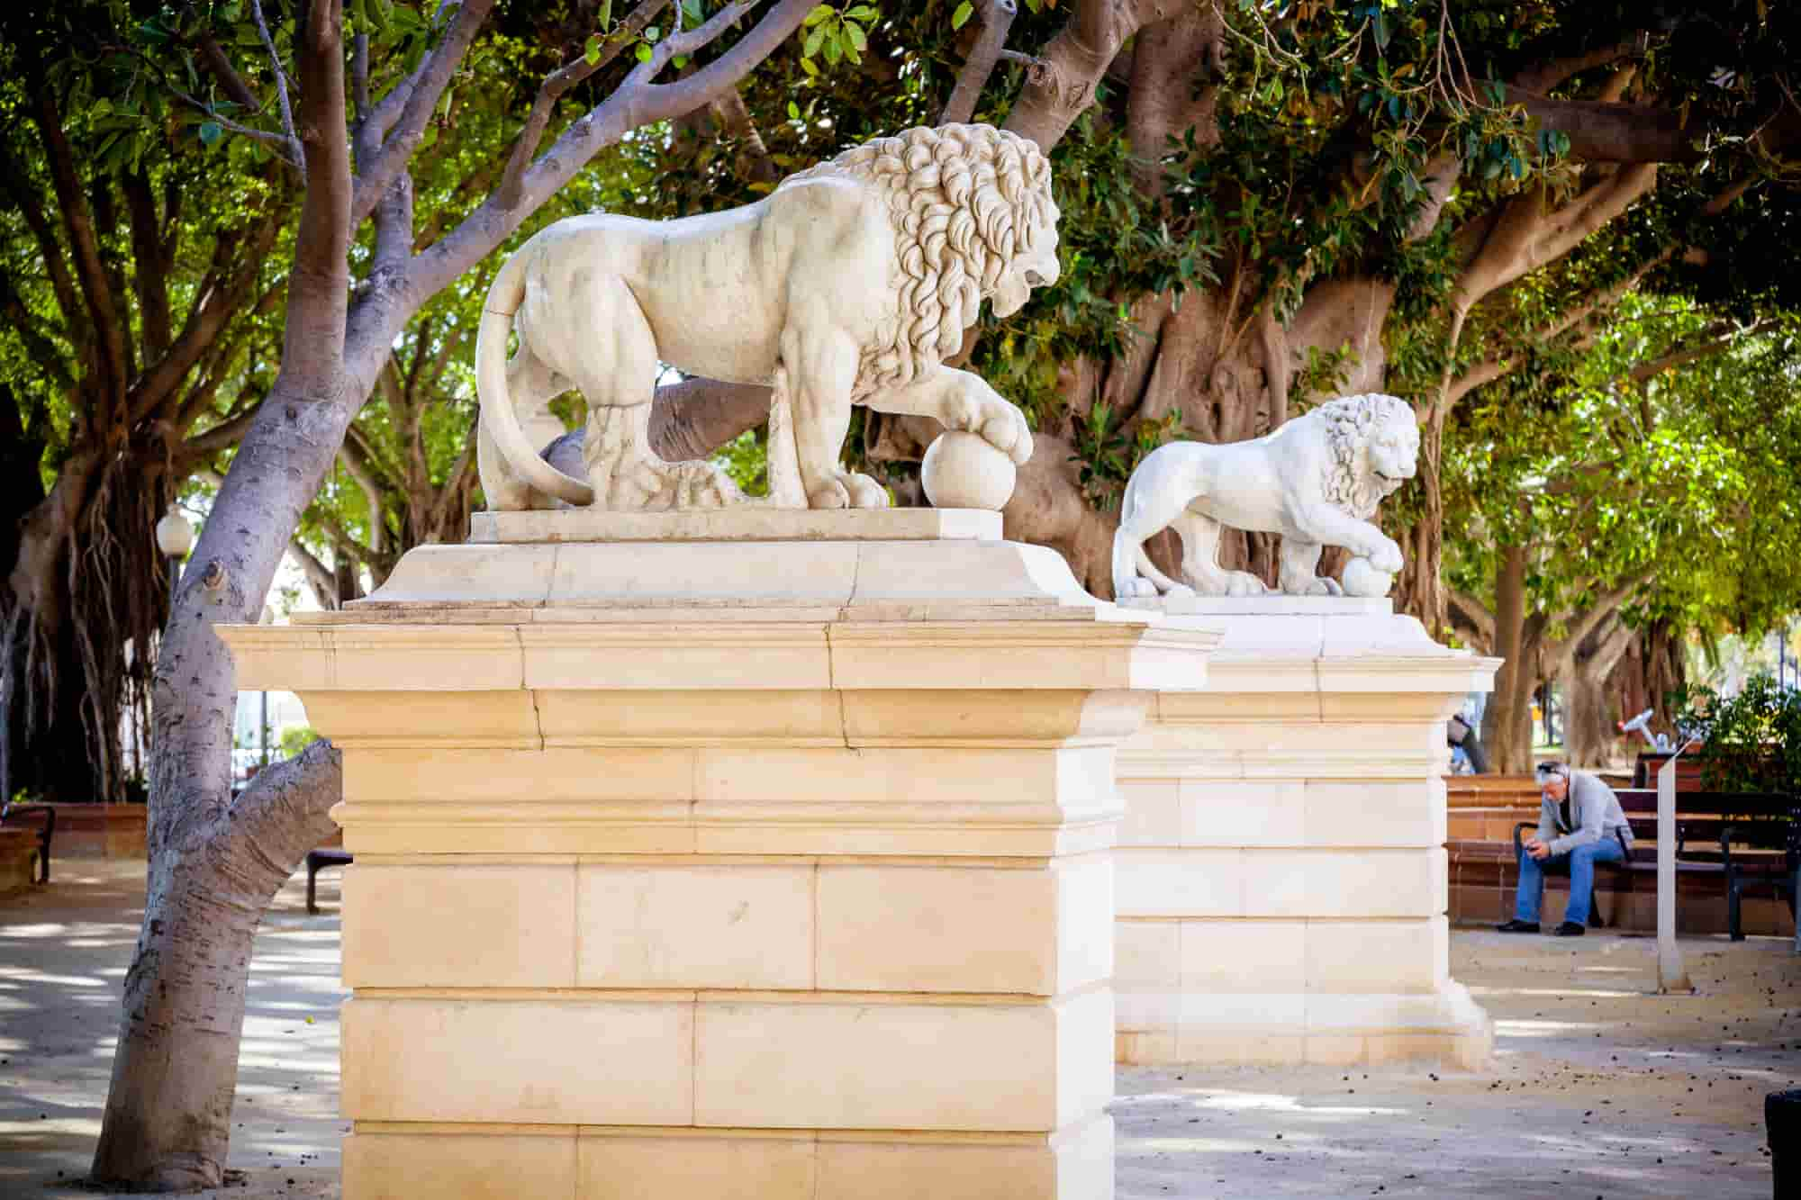
{"label": "smaller, whiter stone lion statue on the farther pedestal", "polygon": [[[1171,441],[1145,456],[1126,483],[1113,535],[1113,595],[1255,596],[1263,580],[1219,568],[1219,530],[1282,535],[1281,591],[1385,596],[1401,569],[1401,548],[1371,524],[1376,505],[1414,477],[1419,425],[1398,396],[1371,393],[1327,400],[1252,441]],[[1158,573],[1144,542],[1162,530],[1181,537],[1181,578]],[[1356,555],[1345,586],[1318,575],[1320,550]]]}

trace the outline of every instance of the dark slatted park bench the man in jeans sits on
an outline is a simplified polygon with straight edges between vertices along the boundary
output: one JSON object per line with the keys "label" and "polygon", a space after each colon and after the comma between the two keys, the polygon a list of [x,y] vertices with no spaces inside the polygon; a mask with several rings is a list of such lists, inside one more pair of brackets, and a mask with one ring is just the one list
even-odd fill
{"label": "dark slatted park bench the man in jeans sits on", "polygon": [[[1619,807],[1632,823],[1632,858],[1619,863],[1596,863],[1596,890],[1601,881],[1617,895],[1641,886],[1657,890],[1657,789],[1621,787],[1615,791]],[[1747,890],[1770,888],[1796,912],[1796,888],[1801,881],[1801,809],[1794,796],[1733,793],[1733,791],[1677,791],[1677,874],[1715,876],[1727,899],[1727,933],[1743,941],[1740,903]],[[1525,831],[1536,831],[1536,822],[1513,827],[1513,854],[1518,859]],[[1567,876],[1567,868],[1561,872]],[[1549,881],[1547,881],[1549,883]],[[1590,897],[1588,912],[1596,926],[1601,910]]]}

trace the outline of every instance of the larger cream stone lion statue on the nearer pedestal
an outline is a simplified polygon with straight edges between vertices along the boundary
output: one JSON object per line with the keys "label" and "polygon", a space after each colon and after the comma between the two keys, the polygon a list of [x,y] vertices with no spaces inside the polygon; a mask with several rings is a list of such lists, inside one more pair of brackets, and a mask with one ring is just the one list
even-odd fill
{"label": "larger cream stone lion statue on the nearer pedestal", "polygon": [[[738,209],[672,222],[573,216],[501,267],[475,344],[477,461],[490,508],[695,508],[744,503],[706,461],[650,449],[661,369],[767,384],[769,501],[879,508],[839,465],[850,405],[933,416],[1016,463],[1018,407],[947,368],[983,299],[996,315],[1057,279],[1057,205],[1039,150],[985,124],[881,137]],[[506,359],[508,332],[519,348]],[[548,404],[587,400],[576,479],[540,452]],[[569,463],[567,440],[555,461]]]}

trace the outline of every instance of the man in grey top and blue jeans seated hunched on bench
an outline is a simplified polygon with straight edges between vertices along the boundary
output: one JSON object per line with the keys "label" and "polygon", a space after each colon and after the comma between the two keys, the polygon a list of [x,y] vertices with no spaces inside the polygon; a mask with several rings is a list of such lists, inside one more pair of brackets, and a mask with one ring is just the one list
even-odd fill
{"label": "man in grey top and blue jeans seated hunched on bench", "polygon": [[1572,771],[1563,762],[1540,762],[1536,775],[1538,836],[1520,847],[1520,892],[1513,921],[1495,928],[1502,933],[1536,933],[1545,872],[1567,870],[1570,903],[1554,933],[1581,937],[1588,926],[1588,899],[1594,895],[1594,865],[1632,856],[1632,825],[1614,789],[1588,771]]}

